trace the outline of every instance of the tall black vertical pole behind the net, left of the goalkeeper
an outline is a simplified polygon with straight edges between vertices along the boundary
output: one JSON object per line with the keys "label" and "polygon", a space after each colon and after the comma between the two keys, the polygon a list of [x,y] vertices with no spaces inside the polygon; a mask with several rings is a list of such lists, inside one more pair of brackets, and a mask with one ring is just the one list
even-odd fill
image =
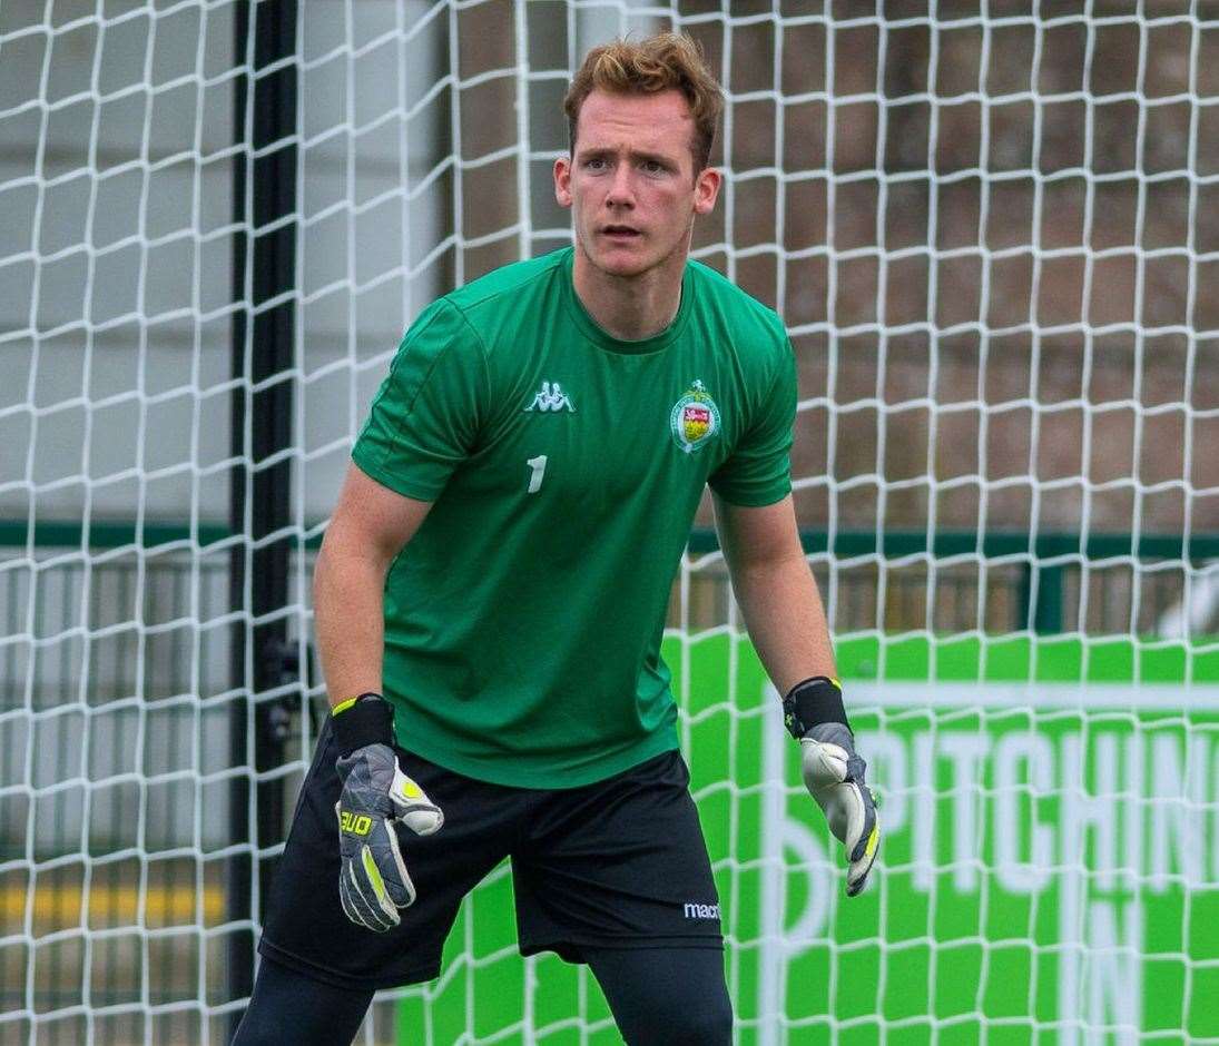
{"label": "tall black vertical pole behind the net, left of the goalkeeper", "polygon": [[[230,605],[243,621],[233,635],[233,686],[240,696],[233,703],[229,740],[232,764],[252,773],[234,778],[229,794],[230,839],[250,845],[247,853],[229,861],[229,920],[261,922],[261,912],[254,911],[254,875],[257,870],[261,900],[272,869],[269,862],[258,859],[258,850],[278,842],[284,827],[283,781],[257,783],[257,775],[283,763],[288,733],[284,703],[260,700],[260,695],[290,678],[286,616],[266,618],[288,603],[293,540],[266,539],[291,518],[290,462],[268,464],[268,460],[293,441],[297,69],[293,61],[275,65],[295,54],[296,13],[296,0],[241,0],[235,9],[235,57],[246,72],[234,91],[234,140],[241,151],[234,165],[233,212],[239,232],[233,244],[238,304],[233,375],[241,384],[233,394],[232,446],[240,463],[232,477],[230,524],[245,540],[234,545],[230,557]],[[284,218],[283,224],[274,224]],[[285,300],[267,305],[280,295]],[[256,783],[252,834],[251,780]],[[229,937],[227,973],[228,998],[249,996],[252,929]],[[233,1014],[230,1031],[240,1016]]]}

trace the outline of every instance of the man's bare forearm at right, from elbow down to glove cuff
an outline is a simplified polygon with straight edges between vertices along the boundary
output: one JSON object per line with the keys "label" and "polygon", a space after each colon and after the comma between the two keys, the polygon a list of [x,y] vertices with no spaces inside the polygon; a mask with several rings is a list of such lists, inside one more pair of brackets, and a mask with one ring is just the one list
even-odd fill
{"label": "man's bare forearm at right, from elbow down to glove cuff", "polygon": [[825,611],[803,556],[741,564],[733,572],[733,590],[780,695],[811,675],[836,674]]}

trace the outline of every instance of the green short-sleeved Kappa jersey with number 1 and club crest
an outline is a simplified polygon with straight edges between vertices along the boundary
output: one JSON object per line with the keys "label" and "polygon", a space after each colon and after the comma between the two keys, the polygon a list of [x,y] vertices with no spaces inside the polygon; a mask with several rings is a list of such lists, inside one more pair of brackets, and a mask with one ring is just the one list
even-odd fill
{"label": "green short-sleeved Kappa jersey with number 1 and club crest", "polygon": [[779,317],[689,262],[669,327],[620,341],[572,249],[506,266],[411,326],[352,451],[433,501],[385,582],[399,742],[524,788],[675,749],[661,639],[706,484],[790,490],[795,358]]}

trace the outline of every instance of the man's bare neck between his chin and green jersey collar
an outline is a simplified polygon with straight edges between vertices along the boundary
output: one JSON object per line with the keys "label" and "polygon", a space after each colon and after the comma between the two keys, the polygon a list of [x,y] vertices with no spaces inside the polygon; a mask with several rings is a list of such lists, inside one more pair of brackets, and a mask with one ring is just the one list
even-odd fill
{"label": "man's bare neck between his chin and green jersey collar", "polygon": [[642,341],[673,322],[681,304],[685,251],[639,277],[614,277],[595,268],[575,245],[572,282],[597,327],[622,341]]}

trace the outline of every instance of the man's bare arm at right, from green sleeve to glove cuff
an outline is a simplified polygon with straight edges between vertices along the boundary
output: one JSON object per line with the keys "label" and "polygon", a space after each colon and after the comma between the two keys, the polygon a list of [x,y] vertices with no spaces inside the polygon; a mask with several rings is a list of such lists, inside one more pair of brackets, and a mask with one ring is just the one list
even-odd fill
{"label": "man's bare arm at right, from green sleeve to glove cuff", "polygon": [[762,508],[717,497],[716,529],[745,625],[779,692],[812,675],[836,675],[825,611],[800,544],[791,495]]}

